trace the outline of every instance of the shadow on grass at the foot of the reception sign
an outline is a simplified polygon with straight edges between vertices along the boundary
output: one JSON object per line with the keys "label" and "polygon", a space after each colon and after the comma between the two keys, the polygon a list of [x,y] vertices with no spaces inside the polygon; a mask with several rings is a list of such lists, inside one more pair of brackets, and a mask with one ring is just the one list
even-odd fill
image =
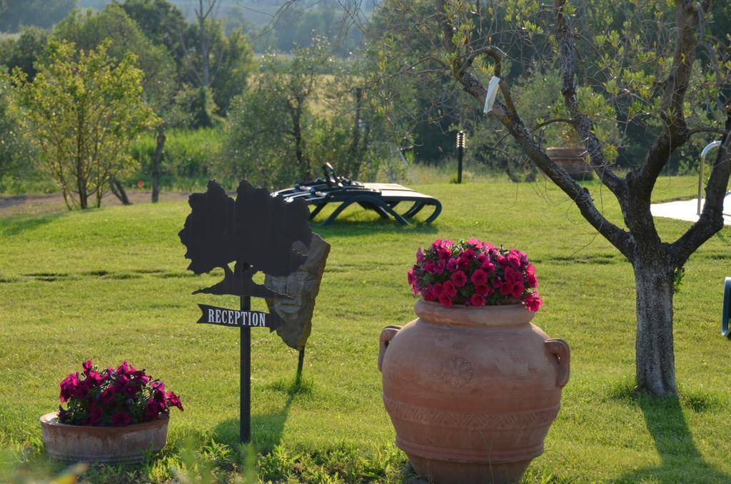
{"label": "shadow on grass at the foot of the reception sign", "polygon": [[[298,395],[311,392],[311,384],[303,382],[299,378],[295,378],[289,384],[275,383],[273,388],[287,395],[287,400],[281,409],[268,414],[251,415],[251,442],[262,453],[270,452],[273,447],[281,443],[284,425],[287,423],[289,409],[292,407],[295,398]],[[239,427],[240,420],[238,418],[221,422],[213,429],[213,439],[232,447],[238,445],[240,443]]]}

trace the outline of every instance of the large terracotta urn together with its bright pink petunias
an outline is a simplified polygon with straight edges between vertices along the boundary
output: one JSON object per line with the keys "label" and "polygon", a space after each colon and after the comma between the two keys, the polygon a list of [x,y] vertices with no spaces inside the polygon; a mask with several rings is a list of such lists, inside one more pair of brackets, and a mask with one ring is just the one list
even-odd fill
{"label": "large terracotta urn together with its bright pink petunias", "polygon": [[569,347],[531,319],[536,268],[471,238],[417,251],[417,319],[382,330],[379,369],[396,445],[436,483],[518,482],[543,452],[569,379]]}

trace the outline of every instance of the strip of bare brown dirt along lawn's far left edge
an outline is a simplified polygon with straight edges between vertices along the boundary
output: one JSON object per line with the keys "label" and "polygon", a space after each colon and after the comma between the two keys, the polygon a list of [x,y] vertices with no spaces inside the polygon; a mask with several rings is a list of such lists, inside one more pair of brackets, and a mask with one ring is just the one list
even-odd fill
{"label": "strip of bare brown dirt along lawn's far left edge", "polygon": [[[189,192],[161,192],[160,201],[177,202],[188,200],[189,194]],[[129,190],[127,196],[133,204],[151,203],[150,192]],[[113,194],[106,194],[102,198],[102,207],[108,207],[110,205],[121,205],[121,202]],[[0,197],[0,216],[38,215],[41,213],[56,213],[67,210],[66,204],[64,203],[64,196],[60,193]]]}

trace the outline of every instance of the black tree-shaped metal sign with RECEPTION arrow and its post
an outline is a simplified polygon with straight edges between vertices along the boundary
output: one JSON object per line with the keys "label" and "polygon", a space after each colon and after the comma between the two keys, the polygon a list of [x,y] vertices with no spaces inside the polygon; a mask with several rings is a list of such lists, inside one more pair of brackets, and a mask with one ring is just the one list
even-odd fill
{"label": "black tree-shaped metal sign with RECEPTION arrow and its post", "polygon": [[[189,197],[191,213],[178,235],[186,246],[188,268],[200,275],[216,268],[224,279],[193,294],[235,295],[240,309],[199,304],[197,322],[232,326],[241,330],[241,424],[240,436],[248,442],[251,435],[251,332],[250,328],[269,328],[281,324],[276,312],[251,311],[251,296],[268,300],[291,299],[254,282],[258,272],[268,276],[289,276],[306,262],[312,240],[309,210],[301,200],[285,202],[267,189],[240,182],[236,200],[215,181],[208,182],[205,193]],[[231,265],[233,264],[233,268]]]}

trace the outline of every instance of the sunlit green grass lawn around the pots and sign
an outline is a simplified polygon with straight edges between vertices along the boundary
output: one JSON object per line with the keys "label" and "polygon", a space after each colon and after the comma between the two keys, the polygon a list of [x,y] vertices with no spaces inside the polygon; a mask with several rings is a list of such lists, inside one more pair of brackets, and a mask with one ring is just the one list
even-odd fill
{"label": "sunlit green grass lawn around the pots and sign", "polygon": [[[656,200],[691,197],[695,183],[662,178]],[[609,192],[588,186],[621,223]],[[417,247],[474,236],[529,254],[545,301],[534,323],[572,348],[561,412],[526,482],[731,481],[731,341],[719,334],[730,228],[692,256],[675,295],[681,397],[635,398],[632,269],[564,194],[544,183],[418,189],[444,205],[431,227],[399,227],[356,208],[314,227],[332,250],[299,389],[296,352],[268,331],[252,331],[260,479],[403,479],[405,458],[381,400],[379,333],[414,317],[406,271]],[[10,472],[0,481],[41,472],[38,417],[56,409],[58,382],[88,358],[146,368],[185,406],[172,413],[162,453],[144,466],[91,469],[90,480],[164,481],[173,469],[192,467],[204,474],[212,467],[218,480],[234,480],[247,466],[251,472],[252,450],[236,445],[238,330],[195,324],[196,303],[233,308],[237,301],[190,294],[221,274],[186,271],[177,232],[188,213],[186,204],[162,203],[0,220],[0,447],[9,449],[0,472]],[[656,224],[667,241],[689,226]]]}

